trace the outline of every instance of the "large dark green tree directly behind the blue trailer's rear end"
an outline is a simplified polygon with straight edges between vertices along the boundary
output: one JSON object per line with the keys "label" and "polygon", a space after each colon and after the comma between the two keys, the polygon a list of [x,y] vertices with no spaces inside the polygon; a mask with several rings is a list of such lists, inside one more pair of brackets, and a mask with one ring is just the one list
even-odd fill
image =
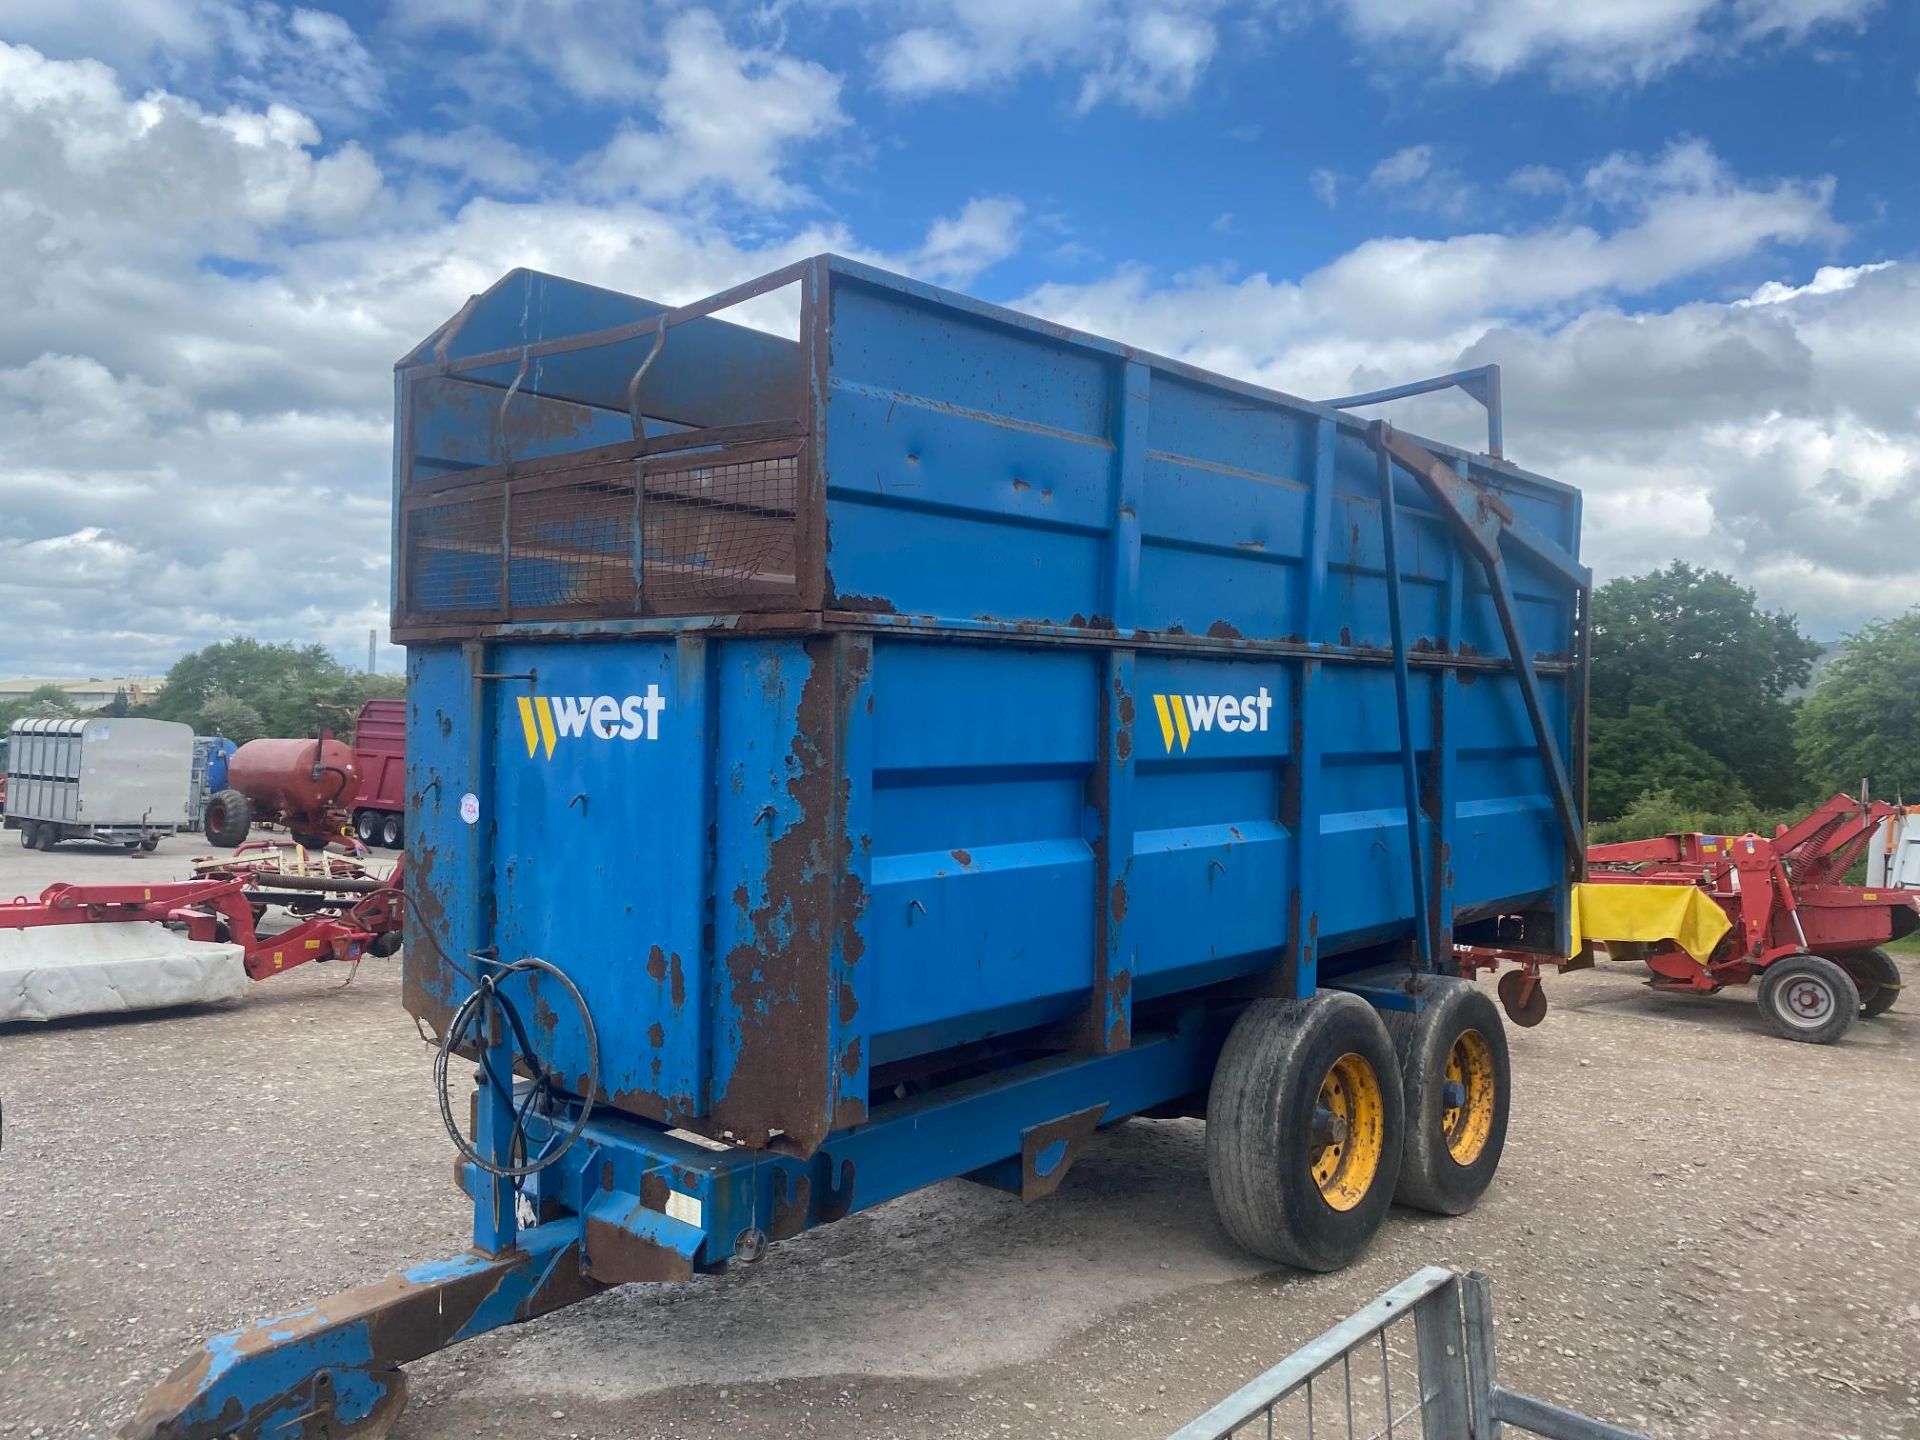
{"label": "large dark green tree directly behind the blue trailer's rear end", "polygon": [[[1596,745],[1590,756],[1594,816],[1620,814],[1630,783],[1688,793],[1707,803],[1703,785],[1738,789],[1715,808],[1745,803],[1793,804],[1805,785],[1793,753],[1793,707],[1788,693],[1805,685],[1820,643],[1799,632],[1784,611],[1763,611],[1732,576],[1674,561],[1665,570],[1609,580],[1594,591],[1592,710]],[[1665,724],[1642,716],[1634,726],[1663,743],[1653,756],[1628,764],[1615,743],[1613,722],[1634,710],[1653,710]],[[1605,753],[1597,735],[1613,730]],[[1715,766],[1703,766],[1709,756]],[[1624,772],[1622,772],[1624,766]],[[1630,801],[1626,801],[1630,803]]]}

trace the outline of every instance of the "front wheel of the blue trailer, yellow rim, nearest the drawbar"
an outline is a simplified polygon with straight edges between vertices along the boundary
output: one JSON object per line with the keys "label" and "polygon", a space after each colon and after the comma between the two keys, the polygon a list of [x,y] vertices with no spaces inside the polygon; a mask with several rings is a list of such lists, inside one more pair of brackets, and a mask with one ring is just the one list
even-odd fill
{"label": "front wheel of the blue trailer, yellow rim, nearest the drawbar", "polygon": [[1404,1104],[1394,1043],[1365,1000],[1256,1000],[1227,1035],[1206,1106],[1227,1233],[1298,1269],[1359,1256],[1394,1202]]}

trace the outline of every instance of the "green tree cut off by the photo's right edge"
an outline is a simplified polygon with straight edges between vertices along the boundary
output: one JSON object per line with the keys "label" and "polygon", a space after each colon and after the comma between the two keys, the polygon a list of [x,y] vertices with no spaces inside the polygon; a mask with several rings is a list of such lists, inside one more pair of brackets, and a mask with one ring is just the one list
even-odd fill
{"label": "green tree cut off by the photo's right edge", "polygon": [[1920,801],[1920,607],[1847,636],[1801,705],[1795,741],[1826,793],[1870,780],[1876,795]]}

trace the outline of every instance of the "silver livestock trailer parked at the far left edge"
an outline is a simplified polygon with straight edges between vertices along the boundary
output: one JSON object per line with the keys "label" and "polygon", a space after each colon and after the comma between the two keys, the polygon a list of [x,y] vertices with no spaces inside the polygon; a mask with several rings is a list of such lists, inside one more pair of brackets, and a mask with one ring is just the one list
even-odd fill
{"label": "silver livestock trailer parked at the far left edge", "polygon": [[194,732],[171,720],[15,720],[6,828],[29,851],[92,839],[152,851],[186,824]]}

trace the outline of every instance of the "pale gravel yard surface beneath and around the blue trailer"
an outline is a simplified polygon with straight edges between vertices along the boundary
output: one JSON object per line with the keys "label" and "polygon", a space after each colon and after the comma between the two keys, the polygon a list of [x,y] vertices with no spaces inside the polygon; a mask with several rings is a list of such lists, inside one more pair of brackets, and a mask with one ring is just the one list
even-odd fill
{"label": "pale gravel yard surface beneath and around the blue trailer", "polygon": [[[6,837],[0,893],[194,852]],[[941,1185],[426,1359],[394,1436],[1162,1436],[1448,1263],[1496,1281],[1505,1384],[1674,1440],[1920,1440],[1920,1006],[1795,1046],[1620,972],[1513,1033],[1478,1210],[1396,1212],[1340,1275],[1236,1252],[1200,1125],[1133,1121],[1048,1202]],[[204,1336],[463,1248],[397,962],[344,979],[0,1027],[0,1436],[106,1434]]]}

